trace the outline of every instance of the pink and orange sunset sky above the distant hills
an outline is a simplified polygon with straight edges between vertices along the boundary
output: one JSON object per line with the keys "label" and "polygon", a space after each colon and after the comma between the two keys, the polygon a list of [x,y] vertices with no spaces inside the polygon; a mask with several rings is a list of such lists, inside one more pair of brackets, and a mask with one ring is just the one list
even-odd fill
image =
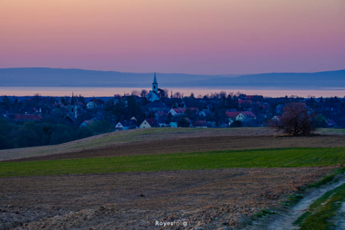
{"label": "pink and orange sunset sky above the distant hills", "polygon": [[0,0],[0,68],[345,69],[344,0]]}

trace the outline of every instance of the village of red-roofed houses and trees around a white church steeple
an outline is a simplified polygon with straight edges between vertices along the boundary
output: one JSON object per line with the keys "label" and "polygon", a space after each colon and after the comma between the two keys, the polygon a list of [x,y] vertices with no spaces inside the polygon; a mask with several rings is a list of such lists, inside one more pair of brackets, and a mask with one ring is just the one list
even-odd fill
{"label": "village of red-roofed houses and trees around a white church steeple", "polygon": [[[37,94],[25,99],[2,96],[0,114],[12,127],[9,130],[17,132],[13,134],[14,140],[17,140],[21,126],[33,122],[36,125],[49,124],[49,128],[40,127],[42,131],[37,131],[43,132],[38,134],[41,137],[37,139],[48,135],[48,140],[41,144],[61,144],[91,135],[133,128],[264,127],[268,126],[270,120],[279,121],[284,107],[289,103],[304,104],[308,113],[313,113],[319,128],[345,128],[344,98],[263,97],[240,92],[227,94],[224,91],[184,96],[179,92],[172,93],[159,88],[156,74],[149,92],[145,89],[132,90],[130,94],[101,98],[85,98],[74,93],[72,97],[43,97]],[[28,124],[26,127],[30,128]],[[55,132],[57,128],[59,131]],[[8,133],[11,132],[3,135],[8,137]],[[41,144],[28,141],[12,147]]]}

